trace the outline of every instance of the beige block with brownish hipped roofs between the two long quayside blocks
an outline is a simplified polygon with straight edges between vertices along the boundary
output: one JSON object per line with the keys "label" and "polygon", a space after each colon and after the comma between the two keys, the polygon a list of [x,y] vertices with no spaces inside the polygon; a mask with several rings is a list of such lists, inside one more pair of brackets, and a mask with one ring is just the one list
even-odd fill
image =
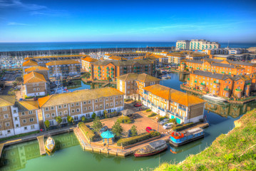
{"label": "beige block with brownish hipped roofs between the two long quayside blocks", "polygon": [[125,93],[124,98],[140,100],[144,87],[159,83],[160,79],[145,73],[128,73],[116,78],[116,89]]}

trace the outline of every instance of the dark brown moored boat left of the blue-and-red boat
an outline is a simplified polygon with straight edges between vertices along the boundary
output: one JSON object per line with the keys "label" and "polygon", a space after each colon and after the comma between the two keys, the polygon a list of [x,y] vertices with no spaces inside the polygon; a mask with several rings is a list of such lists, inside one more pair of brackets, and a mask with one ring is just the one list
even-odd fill
{"label": "dark brown moored boat left of the blue-and-red boat", "polygon": [[156,155],[160,152],[163,152],[168,148],[165,140],[157,140],[150,142],[149,145],[141,147],[139,150],[136,150],[134,153],[135,157],[145,157],[150,155]]}

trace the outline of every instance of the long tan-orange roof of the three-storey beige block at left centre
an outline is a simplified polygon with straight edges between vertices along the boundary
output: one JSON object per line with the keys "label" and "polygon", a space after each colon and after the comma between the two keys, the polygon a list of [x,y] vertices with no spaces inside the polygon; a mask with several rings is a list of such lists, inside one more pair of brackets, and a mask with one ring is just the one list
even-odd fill
{"label": "long tan-orange roof of the three-storey beige block at left centre", "polygon": [[105,98],[113,95],[124,95],[123,92],[116,88],[97,88],[92,90],[76,90],[71,93],[61,93],[48,95],[39,98],[39,107],[47,107],[52,105],[61,105],[67,103],[76,103],[84,100],[93,100],[97,98]]}

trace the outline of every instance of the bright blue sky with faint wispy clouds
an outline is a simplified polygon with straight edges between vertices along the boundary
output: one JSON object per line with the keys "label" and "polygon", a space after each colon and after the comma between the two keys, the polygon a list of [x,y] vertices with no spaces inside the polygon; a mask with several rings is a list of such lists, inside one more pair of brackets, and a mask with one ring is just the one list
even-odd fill
{"label": "bright blue sky with faint wispy clouds", "polygon": [[0,0],[0,42],[256,42],[256,1]]}

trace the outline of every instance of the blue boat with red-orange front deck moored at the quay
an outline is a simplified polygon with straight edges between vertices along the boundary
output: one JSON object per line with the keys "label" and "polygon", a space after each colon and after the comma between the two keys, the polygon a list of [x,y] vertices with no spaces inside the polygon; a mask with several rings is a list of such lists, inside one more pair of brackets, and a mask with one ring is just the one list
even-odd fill
{"label": "blue boat with red-orange front deck moored at the quay", "polygon": [[191,130],[185,130],[183,133],[173,132],[170,135],[170,144],[174,147],[185,145],[188,142],[203,138],[205,133],[201,128],[193,128]]}

